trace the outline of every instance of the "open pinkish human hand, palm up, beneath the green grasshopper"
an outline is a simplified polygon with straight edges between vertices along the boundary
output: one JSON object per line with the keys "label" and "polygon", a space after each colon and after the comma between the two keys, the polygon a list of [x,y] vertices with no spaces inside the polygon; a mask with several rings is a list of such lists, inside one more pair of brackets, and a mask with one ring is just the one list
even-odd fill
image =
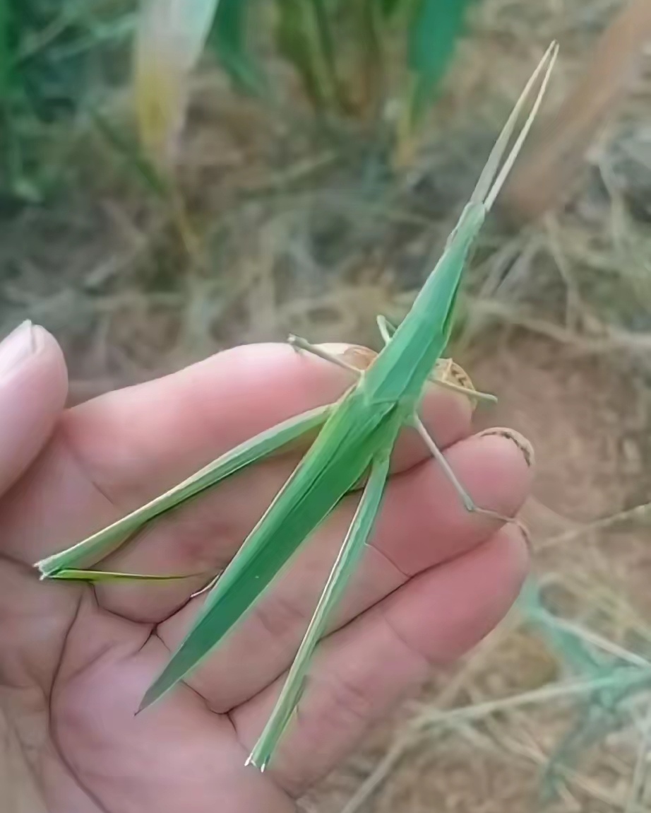
{"label": "open pinkish human hand, palm up, beneath the green grasshopper", "polygon": [[[330,346],[330,351],[342,347]],[[292,813],[431,668],[502,619],[528,567],[520,530],[463,510],[403,433],[371,545],[317,652],[291,733],[264,775],[244,760],[355,509],[347,498],[222,650],[134,711],[205,583],[40,582],[32,563],[153,498],[252,434],[338,397],[347,372],[288,346],[239,347],[65,410],[63,355],[42,328],[0,345],[0,684],[50,813]],[[424,419],[476,502],[514,514],[527,443],[472,436],[468,402],[432,389]],[[171,515],[110,567],[197,572],[237,550],[300,450]]]}

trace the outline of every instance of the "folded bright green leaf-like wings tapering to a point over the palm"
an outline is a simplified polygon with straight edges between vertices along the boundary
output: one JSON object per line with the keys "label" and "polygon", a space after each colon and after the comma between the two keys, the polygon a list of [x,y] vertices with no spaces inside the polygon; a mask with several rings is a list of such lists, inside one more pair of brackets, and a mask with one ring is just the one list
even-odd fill
{"label": "folded bright green leaf-like wings tapering to a point over the palm", "polygon": [[394,405],[369,405],[355,389],[339,404],[308,454],[235,555],[198,618],[144,696],[149,706],[172,689],[250,611],[292,555],[355,485],[400,428]]}

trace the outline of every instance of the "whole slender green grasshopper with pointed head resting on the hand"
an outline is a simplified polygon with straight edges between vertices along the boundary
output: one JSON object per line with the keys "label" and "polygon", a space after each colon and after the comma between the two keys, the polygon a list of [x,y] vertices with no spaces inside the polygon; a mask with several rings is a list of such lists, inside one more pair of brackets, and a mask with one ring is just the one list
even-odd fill
{"label": "whole slender green grasshopper with pointed head resting on the hand", "polygon": [[[382,317],[378,317],[385,346],[373,363],[360,370],[344,359],[330,356],[310,345],[304,339],[291,337],[292,344],[298,350],[329,359],[346,367],[356,376],[356,383],[338,402],[298,415],[253,437],[122,520],[68,550],[37,563],[41,578],[183,578],[135,576],[84,568],[92,567],[93,563],[97,563],[140,532],[145,524],[167,511],[205,492],[244,467],[273,454],[305,433],[319,430],[307,454],[249,533],[235,558],[205,588],[205,602],[192,628],[145,694],[140,709],[169,692],[224,640],[226,634],[252,609],[272,581],[290,563],[300,546],[326,520],[342,498],[356,489],[360,481],[364,481],[356,514],[278,702],[248,758],[248,763],[261,770],[265,769],[298,706],[313,651],[326,632],[326,624],[334,606],[364,553],[381,506],[389,475],[390,456],[403,427],[416,428],[433,458],[450,478],[468,511],[480,512],[502,522],[514,521],[476,506],[459,483],[436,442],[429,436],[420,420],[419,408],[425,387],[432,380],[432,372],[441,362],[442,353],[451,337],[455,303],[472,243],[527,137],[550,80],[557,54],[558,46],[552,43],[498,137],[470,202],[463,209],[441,259],[420,290],[411,311],[398,328],[393,328]],[[517,120],[532,87],[541,75],[540,89],[532,110],[515,138],[514,146],[507,153]],[[468,393],[472,398],[491,398],[450,381],[434,380],[438,385]]]}

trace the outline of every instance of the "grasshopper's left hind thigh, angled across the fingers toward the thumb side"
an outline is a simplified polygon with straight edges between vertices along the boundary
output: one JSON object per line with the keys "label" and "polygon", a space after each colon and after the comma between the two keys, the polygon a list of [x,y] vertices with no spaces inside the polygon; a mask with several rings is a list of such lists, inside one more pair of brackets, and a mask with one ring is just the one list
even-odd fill
{"label": "grasshopper's left hind thigh, angled across the fingers toward the thumb side", "polygon": [[[183,480],[182,483],[170,489],[160,497],[148,502],[132,511],[131,514],[114,522],[107,528],[94,533],[93,536],[80,541],[75,546],[61,551],[61,553],[41,559],[36,567],[44,577],[55,577],[65,571],[79,571],[97,563],[100,559],[117,550],[134,533],[138,533],[145,524],[157,519],[167,511],[171,511],[188,499],[196,497],[206,489],[226,480],[251,463],[273,454],[281,446],[294,441],[304,433],[319,428],[326,423],[328,415],[333,411],[333,405],[319,406],[295,418],[284,421],[251,440],[246,441],[235,449],[226,452],[222,457],[209,463],[199,472]],[[97,573],[97,571],[95,572]],[[59,578],[65,576],[59,576]],[[79,578],[79,576],[71,576]],[[101,576],[106,578],[106,576]],[[93,580],[93,572],[88,572],[88,579]]]}

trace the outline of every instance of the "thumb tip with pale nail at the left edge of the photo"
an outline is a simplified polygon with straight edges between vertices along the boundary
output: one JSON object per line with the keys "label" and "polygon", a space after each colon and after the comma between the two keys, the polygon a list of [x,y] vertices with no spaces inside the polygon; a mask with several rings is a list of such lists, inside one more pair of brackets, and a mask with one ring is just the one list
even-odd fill
{"label": "thumb tip with pale nail at the left edge of the photo", "polygon": [[41,451],[66,397],[57,341],[29,321],[19,325],[0,342],[0,494]]}

